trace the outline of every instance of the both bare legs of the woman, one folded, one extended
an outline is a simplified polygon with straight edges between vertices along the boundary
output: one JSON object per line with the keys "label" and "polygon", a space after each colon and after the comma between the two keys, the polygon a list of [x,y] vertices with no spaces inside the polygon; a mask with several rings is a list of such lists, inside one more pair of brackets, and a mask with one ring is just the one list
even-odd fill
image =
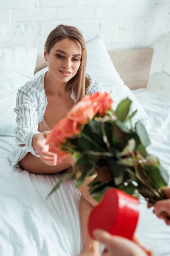
{"label": "both bare legs of the woman, one folded, one extended", "polygon": [[[66,172],[73,172],[72,166],[74,166],[74,164],[75,160],[72,157],[68,157],[63,160],[63,163],[58,163],[57,166],[48,166],[41,161],[40,157],[35,157],[30,152],[28,152],[26,156],[20,160],[20,165],[22,168],[34,174],[52,174],[61,172],[64,169],[67,169]],[[77,178],[79,175],[77,175]],[[90,215],[93,207],[98,204],[93,198],[91,198],[87,186],[87,184],[90,183],[94,177],[95,176],[88,177],[79,187],[79,191],[82,194],[80,199],[80,220],[83,236],[83,250],[80,254],[81,256],[99,256],[98,242],[90,238],[87,230],[88,216]]]}

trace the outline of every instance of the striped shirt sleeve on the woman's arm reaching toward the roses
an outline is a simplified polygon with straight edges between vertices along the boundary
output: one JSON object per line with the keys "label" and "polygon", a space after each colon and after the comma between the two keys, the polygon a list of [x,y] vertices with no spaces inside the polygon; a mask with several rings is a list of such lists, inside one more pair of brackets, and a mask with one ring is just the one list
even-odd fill
{"label": "striped shirt sleeve on the woman's arm reaching toward the roses", "polygon": [[32,137],[40,133],[37,131],[37,99],[29,87],[24,86],[18,90],[14,112],[17,114],[17,127],[14,129],[17,146],[37,156],[32,147]]}

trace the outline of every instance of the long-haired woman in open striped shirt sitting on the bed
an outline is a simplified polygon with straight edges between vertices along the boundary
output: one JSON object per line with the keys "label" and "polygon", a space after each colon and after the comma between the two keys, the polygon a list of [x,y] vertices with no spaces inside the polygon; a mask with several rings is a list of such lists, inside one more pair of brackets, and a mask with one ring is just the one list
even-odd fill
{"label": "long-haired woman in open striped shirt sitting on the bed", "polygon": [[[48,72],[28,81],[18,90],[16,107],[16,143],[8,157],[11,166],[22,166],[34,174],[52,174],[65,170],[73,172],[74,159],[68,157],[61,164],[57,155],[48,151],[46,136],[74,104],[86,94],[102,92],[102,87],[90,75],[85,76],[86,46],[79,30],[73,26],[59,25],[48,35],[44,58]],[[81,256],[98,256],[98,242],[92,241],[87,232],[88,215],[96,201],[86,186],[90,177],[79,188],[80,219],[83,234]]]}

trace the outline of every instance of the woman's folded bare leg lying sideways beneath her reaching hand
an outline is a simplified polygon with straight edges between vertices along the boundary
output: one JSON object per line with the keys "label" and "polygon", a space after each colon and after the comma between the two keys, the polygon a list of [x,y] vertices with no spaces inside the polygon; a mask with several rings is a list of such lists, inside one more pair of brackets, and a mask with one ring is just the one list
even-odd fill
{"label": "woman's folded bare leg lying sideways beneath her reaching hand", "polygon": [[[36,157],[31,152],[28,152],[22,160],[20,160],[21,167],[34,174],[52,174],[61,172],[71,166],[74,166],[75,160],[72,157],[65,157],[63,163],[57,163],[56,166],[49,166],[42,162],[40,157]],[[70,168],[69,168],[70,170]]]}

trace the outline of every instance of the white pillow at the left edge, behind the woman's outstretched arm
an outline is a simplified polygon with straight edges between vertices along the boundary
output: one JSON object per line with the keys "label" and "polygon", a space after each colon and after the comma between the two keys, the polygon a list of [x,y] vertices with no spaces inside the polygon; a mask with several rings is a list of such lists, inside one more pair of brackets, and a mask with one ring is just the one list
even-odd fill
{"label": "white pillow at the left edge, behind the woman's outstretched arm", "polygon": [[33,79],[37,50],[24,47],[0,49],[0,135],[14,136],[17,90]]}

